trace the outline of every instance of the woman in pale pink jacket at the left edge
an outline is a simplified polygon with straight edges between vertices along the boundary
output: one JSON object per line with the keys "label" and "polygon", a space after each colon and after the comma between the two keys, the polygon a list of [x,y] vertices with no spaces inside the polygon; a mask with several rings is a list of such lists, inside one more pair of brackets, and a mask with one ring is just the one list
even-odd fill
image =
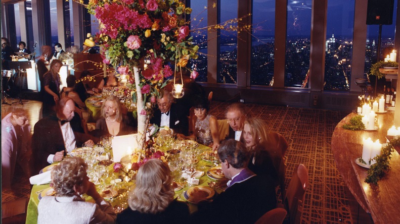
{"label": "woman in pale pink jacket at the left edge", "polygon": [[29,138],[26,111],[22,107],[13,107],[12,112],[2,120],[2,187],[11,187],[16,163],[30,175],[27,165],[31,155]]}

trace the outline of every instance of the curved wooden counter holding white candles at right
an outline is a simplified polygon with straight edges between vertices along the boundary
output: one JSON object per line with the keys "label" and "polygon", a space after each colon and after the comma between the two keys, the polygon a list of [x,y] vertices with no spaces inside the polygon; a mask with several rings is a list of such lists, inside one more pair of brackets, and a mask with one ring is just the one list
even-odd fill
{"label": "curved wooden counter holding white candles at right", "polygon": [[336,167],[351,194],[371,214],[375,223],[396,223],[400,219],[400,196],[397,194],[397,189],[400,189],[400,155],[397,150],[393,150],[389,160],[390,170],[378,185],[365,182],[368,168],[356,161],[362,156],[364,139],[387,142],[387,130],[393,126],[394,113],[385,110],[385,113],[377,114],[376,128],[371,131],[343,129],[343,125],[355,116],[356,113],[347,115],[333,132],[331,147]]}

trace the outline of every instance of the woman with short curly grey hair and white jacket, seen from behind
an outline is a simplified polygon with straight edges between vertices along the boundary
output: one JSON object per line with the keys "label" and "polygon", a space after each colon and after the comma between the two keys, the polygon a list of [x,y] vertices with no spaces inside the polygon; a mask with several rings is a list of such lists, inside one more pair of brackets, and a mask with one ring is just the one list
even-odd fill
{"label": "woman with short curly grey hair and white jacket, seen from behind", "polygon": [[[115,223],[113,208],[97,193],[86,169],[86,163],[79,157],[65,158],[53,168],[52,184],[57,193],[40,200],[37,223]],[[84,193],[96,203],[79,196]]]}

